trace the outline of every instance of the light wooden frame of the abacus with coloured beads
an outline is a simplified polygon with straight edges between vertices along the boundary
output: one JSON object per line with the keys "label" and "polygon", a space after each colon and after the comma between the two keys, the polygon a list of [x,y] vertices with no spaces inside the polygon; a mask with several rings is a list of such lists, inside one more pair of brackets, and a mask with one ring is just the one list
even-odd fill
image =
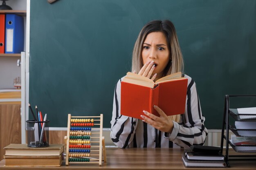
{"label": "light wooden frame of the abacus with coloured beads", "polygon": [[[92,132],[92,134],[96,134],[96,137],[90,137],[90,139],[99,139],[99,141],[90,141],[90,143],[99,143],[99,145],[93,145],[93,146],[90,146],[90,147],[96,147],[96,148],[99,148],[99,150],[91,150],[93,152],[98,152],[99,151],[99,154],[91,154],[90,156],[93,156],[93,157],[90,157],[90,161],[89,162],[69,162],[69,146],[70,146],[70,122],[71,122],[71,118],[74,118],[74,119],[88,119],[90,118],[91,119],[94,119],[94,121],[100,121],[99,124],[94,124],[96,126],[99,126],[99,128],[92,128],[92,130],[95,130],[95,131],[99,131],[99,132]],[[102,150],[103,150],[103,160],[104,162],[107,162],[107,159],[106,159],[106,149],[105,149],[105,140],[104,140],[104,137],[102,136],[102,128],[103,128],[103,115],[100,114],[100,116],[71,116],[71,114],[68,114],[68,119],[67,119],[67,137],[65,137],[67,139],[66,141],[66,166],[69,165],[69,163],[99,163],[99,166],[102,165]],[[73,130],[72,130],[73,131]],[[76,131],[76,130],[74,130]],[[77,131],[80,131],[80,130],[77,130]],[[83,130],[81,130],[83,131]],[[98,136],[99,135],[99,136]],[[80,140],[80,139],[78,139]],[[81,139],[83,140],[83,139]],[[95,158],[98,157],[98,158]]]}

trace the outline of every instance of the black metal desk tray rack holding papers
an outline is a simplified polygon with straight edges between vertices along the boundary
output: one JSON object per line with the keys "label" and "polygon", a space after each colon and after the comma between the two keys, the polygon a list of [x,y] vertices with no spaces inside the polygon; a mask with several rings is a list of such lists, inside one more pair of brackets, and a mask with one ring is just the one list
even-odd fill
{"label": "black metal desk tray rack holding papers", "polygon": [[[256,121],[256,115],[254,114],[238,114],[237,109],[229,108],[229,98],[230,97],[256,97],[256,95],[226,95],[223,121],[222,121],[222,132],[221,132],[221,153],[223,152],[224,139],[226,140],[226,154],[225,161],[227,166],[229,166],[229,160],[243,161],[245,158],[247,160],[256,160],[255,155],[243,154],[243,155],[229,155],[229,146],[231,146],[236,152],[256,152],[256,145],[234,145],[229,139],[229,130],[234,132],[236,136],[242,137],[256,137],[256,129],[237,129],[236,126],[230,124],[230,116],[236,121]],[[225,132],[226,131],[226,132]],[[232,159],[233,158],[233,159]]]}

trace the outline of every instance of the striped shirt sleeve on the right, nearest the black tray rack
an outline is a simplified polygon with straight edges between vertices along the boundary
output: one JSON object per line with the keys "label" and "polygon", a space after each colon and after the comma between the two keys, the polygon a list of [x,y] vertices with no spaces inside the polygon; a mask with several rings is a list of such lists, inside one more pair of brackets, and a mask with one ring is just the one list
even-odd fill
{"label": "striped shirt sleeve on the right, nearest the black tray rack", "polygon": [[203,145],[208,133],[207,128],[204,127],[205,118],[202,116],[195,82],[190,77],[188,79],[186,108],[182,122],[178,124],[173,121],[173,132],[165,134],[169,140],[184,148]]}

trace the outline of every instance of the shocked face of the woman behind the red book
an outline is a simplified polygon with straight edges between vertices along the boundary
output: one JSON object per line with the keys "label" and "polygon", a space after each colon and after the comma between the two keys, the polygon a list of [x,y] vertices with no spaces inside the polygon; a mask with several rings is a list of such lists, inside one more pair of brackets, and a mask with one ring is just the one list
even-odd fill
{"label": "shocked face of the woman behind the red book", "polygon": [[170,58],[170,51],[168,49],[166,36],[162,32],[149,33],[143,43],[141,52],[143,64],[148,60],[154,61],[155,69],[152,73],[157,73],[157,79],[164,74],[164,68],[167,66]]}

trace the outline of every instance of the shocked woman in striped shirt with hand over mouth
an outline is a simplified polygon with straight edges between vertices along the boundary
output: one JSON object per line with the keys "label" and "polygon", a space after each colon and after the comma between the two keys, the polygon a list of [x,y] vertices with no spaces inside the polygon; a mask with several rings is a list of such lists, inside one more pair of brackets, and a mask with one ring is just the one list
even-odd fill
{"label": "shocked woman in striped shirt with hand over mouth", "polygon": [[[174,25],[169,20],[155,20],[146,24],[135,42],[132,54],[132,71],[153,81],[183,71],[183,57]],[[175,147],[189,148],[204,144],[207,129],[195,82],[188,79],[186,108],[183,115],[167,116],[154,106],[157,117],[141,110],[143,120],[120,114],[121,81],[115,88],[110,137],[119,148]],[[148,115],[145,117],[144,115]],[[174,144],[173,144],[174,143]],[[176,145],[177,144],[177,145]]]}

